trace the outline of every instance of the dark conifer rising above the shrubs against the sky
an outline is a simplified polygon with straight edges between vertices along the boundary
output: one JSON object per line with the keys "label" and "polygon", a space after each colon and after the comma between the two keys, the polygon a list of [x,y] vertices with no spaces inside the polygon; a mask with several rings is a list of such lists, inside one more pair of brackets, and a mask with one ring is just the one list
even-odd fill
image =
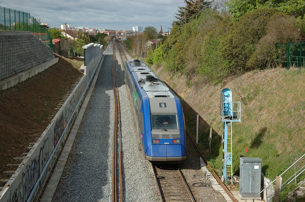
{"label": "dark conifer rising above the shrubs against the sky", "polygon": [[211,7],[211,2],[206,0],[184,0],[184,2],[186,6],[178,6],[178,13],[175,13],[177,16],[174,16],[178,20],[173,21],[172,26],[184,25],[191,19],[199,17],[201,12]]}

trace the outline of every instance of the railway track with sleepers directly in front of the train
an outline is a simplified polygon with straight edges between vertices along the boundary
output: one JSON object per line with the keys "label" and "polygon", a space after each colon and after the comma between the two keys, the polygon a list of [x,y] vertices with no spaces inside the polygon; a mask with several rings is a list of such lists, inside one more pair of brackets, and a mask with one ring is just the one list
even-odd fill
{"label": "railway track with sleepers directly in front of the train", "polygon": [[180,168],[154,164],[152,168],[161,202],[195,202]]}

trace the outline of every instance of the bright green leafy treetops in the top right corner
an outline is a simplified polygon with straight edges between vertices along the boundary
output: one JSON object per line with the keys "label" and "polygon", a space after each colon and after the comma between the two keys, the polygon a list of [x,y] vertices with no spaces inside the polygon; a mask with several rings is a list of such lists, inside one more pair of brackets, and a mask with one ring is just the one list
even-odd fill
{"label": "bright green leafy treetops in the top right corner", "polygon": [[305,4],[303,0],[230,0],[228,2],[229,12],[232,19],[238,21],[239,18],[254,9],[276,8],[287,15],[302,18],[305,14]]}

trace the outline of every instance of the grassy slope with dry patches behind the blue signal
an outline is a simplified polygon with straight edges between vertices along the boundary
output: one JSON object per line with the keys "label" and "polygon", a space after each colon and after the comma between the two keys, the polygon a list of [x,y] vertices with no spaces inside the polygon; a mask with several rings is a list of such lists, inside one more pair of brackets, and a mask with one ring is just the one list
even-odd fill
{"label": "grassy slope with dry patches behind the blue signal", "polygon": [[[183,75],[172,75],[162,67],[152,69],[183,99],[188,130],[196,135],[199,124],[199,147],[207,149],[210,127],[213,128],[210,165],[218,173],[222,166],[223,123],[219,115],[219,97],[223,88],[231,89],[233,101],[241,101],[241,122],[233,123],[233,168],[239,174],[239,156],[260,157],[262,171],[275,179],[305,151],[305,69],[271,69],[248,72],[224,85],[187,88]],[[241,82],[241,88],[237,84]],[[247,153],[246,153],[247,148]]]}

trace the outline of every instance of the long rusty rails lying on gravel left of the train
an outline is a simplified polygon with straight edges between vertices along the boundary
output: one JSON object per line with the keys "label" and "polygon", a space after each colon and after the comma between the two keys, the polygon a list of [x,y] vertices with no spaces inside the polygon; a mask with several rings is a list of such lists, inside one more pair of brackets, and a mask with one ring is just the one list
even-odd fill
{"label": "long rusty rails lying on gravel left of the train", "polygon": [[[114,124],[113,124],[113,153],[112,153],[112,202],[117,202],[118,198],[123,201],[122,190],[122,148],[121,148],[121,117],[120,117],[120,101],[119,91],[117,87],[117,58],[115,55],[116,47],[113,47],[113,64],[112,64],[112,81],[113,81],[113,98],[114,98]],[[119,144],[119,181],[120,181],[120,195],[118,196],[118,180],[117,180],[117,139]]]}

